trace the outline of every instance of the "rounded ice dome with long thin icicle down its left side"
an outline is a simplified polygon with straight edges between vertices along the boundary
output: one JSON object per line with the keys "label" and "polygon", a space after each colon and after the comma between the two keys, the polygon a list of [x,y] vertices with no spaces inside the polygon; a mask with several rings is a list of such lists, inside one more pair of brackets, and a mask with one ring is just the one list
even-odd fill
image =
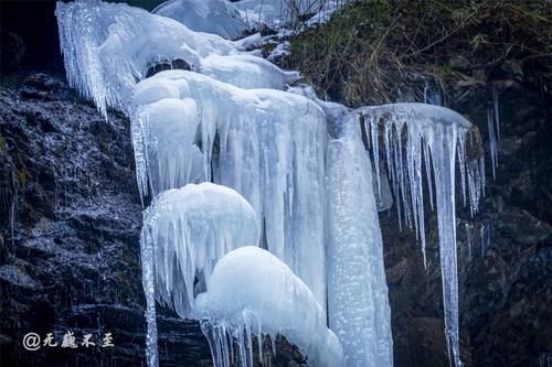
{"label": "rounded ice dome with long thin icicle down its left side", "polygon": [[258,241],[255,211],[232,188],[189,184],[156,197],[144,213],[140,238],[148,366],[158,363],[156,299],[189,319],[194,293],[204,290],[216,261]]}

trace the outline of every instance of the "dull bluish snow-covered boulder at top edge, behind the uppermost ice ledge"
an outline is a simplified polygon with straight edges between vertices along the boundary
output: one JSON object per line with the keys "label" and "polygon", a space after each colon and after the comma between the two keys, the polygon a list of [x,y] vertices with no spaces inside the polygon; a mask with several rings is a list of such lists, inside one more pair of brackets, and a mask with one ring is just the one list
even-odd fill
{"label": "dull bluish snow-covered boulder at top edge, behind the uppermost ice ledge", "polygon": [[225,0],[169,0],[152,13],[174,19],[195,32],[235,39],[245,30],[237,9]]}

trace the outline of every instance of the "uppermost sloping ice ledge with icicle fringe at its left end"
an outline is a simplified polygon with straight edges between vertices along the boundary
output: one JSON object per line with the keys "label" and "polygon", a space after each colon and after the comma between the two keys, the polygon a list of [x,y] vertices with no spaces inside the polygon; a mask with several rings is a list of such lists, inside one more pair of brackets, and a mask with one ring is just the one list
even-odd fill
{"label": "uppermost sloping ice ledge with icicle fringe at its left end", "polygon": [[67,80],[104,117],[107,107],[128,115],[135,85],[160,62],[182,60],[192,71],[244,88],[282,89],[298,78],[240,53],[231,41],[124,3],[59,1],[55,15]]}

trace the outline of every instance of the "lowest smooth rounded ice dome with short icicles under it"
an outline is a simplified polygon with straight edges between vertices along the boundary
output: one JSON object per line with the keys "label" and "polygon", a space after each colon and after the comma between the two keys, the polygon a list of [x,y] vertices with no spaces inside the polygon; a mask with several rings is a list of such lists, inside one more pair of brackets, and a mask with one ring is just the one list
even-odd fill
{"label": "lowest smooth rounded ice dome with short icicles under it", "polygon": [[[261,248],[243,247],[224,256],[194,310],[194,316],[203,320],[216,367],[230,366],[231,336],[237,339],[240,366],[253,366],[254,334],[273,341],[284,335],[311,366],[342,365],[341,347],[326,325],[323,307],[285,263]],[[262,341],[258,337],[257,353]]]}

